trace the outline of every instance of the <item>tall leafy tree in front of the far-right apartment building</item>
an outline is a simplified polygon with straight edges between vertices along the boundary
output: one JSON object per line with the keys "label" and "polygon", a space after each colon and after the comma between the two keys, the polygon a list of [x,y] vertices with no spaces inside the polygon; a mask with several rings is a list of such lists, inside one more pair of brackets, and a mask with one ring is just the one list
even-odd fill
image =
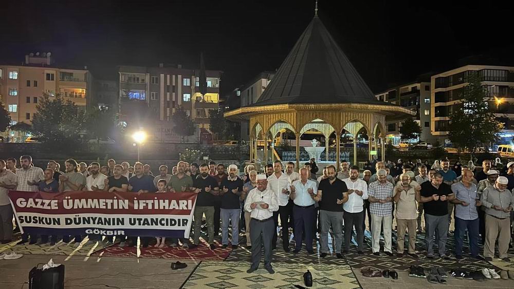
{"label": "tall leafy tree in front of the far-right apartment building", "polygon": [[503,123],[489,110],[487,95],[478,74],[468,76],[461,103],[450,114],[448,136],[459,150],[474,153],[478,147],[489,147],[498,140]]}

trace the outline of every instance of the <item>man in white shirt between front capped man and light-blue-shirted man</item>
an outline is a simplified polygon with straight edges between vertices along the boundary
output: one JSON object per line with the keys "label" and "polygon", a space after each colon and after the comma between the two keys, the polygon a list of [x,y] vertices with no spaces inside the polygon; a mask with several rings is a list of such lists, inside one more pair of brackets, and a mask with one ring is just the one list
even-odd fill
{"label": "man in white shirt between front capped man and light-blue-shirted man", "polygon": [[[273,213],[275,227],[282,225],[282,244],[284,251],[289,252],[289,217],[292,219],[292,202],[289,202],[289,193],[291,181],[289,177],[282,173],[282,162],[276,160],[273,162],[273,173],[268,176],[268,188],[277,195],[279,200],[279,209]],[[292,220],[291,220],[292,221]],[[277,230],[275,230],[272,248],[277,247]]]}

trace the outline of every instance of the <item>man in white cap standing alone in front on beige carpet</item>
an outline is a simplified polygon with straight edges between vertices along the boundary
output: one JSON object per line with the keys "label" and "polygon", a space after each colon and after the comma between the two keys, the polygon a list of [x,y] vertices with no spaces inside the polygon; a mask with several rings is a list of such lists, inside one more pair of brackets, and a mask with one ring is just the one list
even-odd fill
{"label": "man in white cap standing alone in front on beige carpet", "polygon": [[[246,197],[245,210],[250,212],[250,239],[252,241],[252,264],[246,273],[250,274],[259,267],[261,261],[261,247],[264,245],[264,268],[275,273],[271,267],[271,240],[273,239],[273,212],[279,209],[279,200],[276,193],[267,188],[268,181],[265,174],[257,176],[257,187],[252,189]],[[261,239],[262,236],[262,239]]]}

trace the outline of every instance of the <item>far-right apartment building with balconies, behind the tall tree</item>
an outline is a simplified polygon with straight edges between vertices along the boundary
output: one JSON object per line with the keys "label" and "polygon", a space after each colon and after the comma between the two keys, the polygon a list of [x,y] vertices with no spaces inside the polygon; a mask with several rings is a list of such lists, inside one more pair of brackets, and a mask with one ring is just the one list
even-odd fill
{"label": "far-right apartment building with balconies, behind the tall tree", "polygon": [[514,67],[466,65],[431,77],[430,129],[440,143],[448,142],[451,113],[459,106],[468,76],[478,73],[486,90],[489,109],[505,124],[502,137],[514,136]]}

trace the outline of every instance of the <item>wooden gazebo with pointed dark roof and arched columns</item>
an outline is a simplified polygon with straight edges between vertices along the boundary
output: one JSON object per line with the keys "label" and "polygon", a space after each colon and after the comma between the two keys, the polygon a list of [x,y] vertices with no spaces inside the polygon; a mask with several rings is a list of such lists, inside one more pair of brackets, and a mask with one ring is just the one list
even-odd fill
{"label": "wooden gazebo with pointed dark roof and arched columns", "polygon": [[[336,133],[335,162],[339,167],[339,138],[347,123],[358,122],[369,136],[375,136],[376,123],[398,121],[413,115],[414,112],[405,107],[376,99],[317,16],[258,100],[224,114],[235,121],[249,120],[250,127],[260,123],[264,133],[278,121],[287,122],[298,140],[297,167],[300,164],[300,135],[316,127],[317,119],[330,124]],[[383,129],[383,125],[381,127]],[[272,131],[276,132],[276,129]],[[369,141],[369,148],[370,153],[372,141]],[[251,151],[250,155],[253,153]],[[369,157],[371,159],[371,155]]]}

